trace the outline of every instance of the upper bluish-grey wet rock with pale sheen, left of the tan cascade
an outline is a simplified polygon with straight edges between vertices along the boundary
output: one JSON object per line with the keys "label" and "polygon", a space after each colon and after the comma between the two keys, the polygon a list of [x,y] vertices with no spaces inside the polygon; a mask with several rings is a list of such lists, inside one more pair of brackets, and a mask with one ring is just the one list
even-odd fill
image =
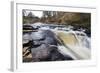
{"label": "upper bluish-grey wet rock with pale sheen, left of the tan cascade", "polygon": [[38,45],[42,43],[57,45],[57,39],[55,37],[55,34],[50,30],[32,32],[30,36],[34,42],[34,45]]}

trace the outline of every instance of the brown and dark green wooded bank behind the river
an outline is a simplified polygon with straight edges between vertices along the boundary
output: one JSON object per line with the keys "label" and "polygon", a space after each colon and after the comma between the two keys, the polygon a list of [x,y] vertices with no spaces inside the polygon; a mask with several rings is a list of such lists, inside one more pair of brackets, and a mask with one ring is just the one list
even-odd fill
{"label": "brown and dark green wooded bank behind the river", "polygon": [[91,14],[76,12],[42,11],[42,17],[35,16],[31,11],[26,16],[23,10],[23,24],[42,22],[47,24],[72,25],[75,29],[83,28],[91,34]]}

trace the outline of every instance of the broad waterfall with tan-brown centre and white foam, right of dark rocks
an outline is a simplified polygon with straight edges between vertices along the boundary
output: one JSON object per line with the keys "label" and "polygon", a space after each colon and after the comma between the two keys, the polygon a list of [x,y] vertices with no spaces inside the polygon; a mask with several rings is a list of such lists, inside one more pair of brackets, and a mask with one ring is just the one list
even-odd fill
{"label": "broad waterfall with tan-brown centre and white foam, right of dark rocks", "polygon": [[[74,59],[90,59],[90,38],[81,31],[58,31],[63,35],[58,36],[63,40],[64,46],[59,46],[59,50],[62,54],[69,54]],[[72,34],[72,35],[70,35]],[[66,38],[67,37],[67,38]],[[69,39],[69,40],[68,40]],[[70,41],[70,42],[68,42]],[[73,42],[75,44],[73,44]]]}

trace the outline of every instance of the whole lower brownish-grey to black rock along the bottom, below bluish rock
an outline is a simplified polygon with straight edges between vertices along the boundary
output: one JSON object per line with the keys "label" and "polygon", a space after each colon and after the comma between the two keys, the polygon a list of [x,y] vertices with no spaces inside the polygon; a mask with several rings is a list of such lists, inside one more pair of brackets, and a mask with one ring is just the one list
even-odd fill
{"label": "whole lower brownish-grey to black rock along the bottom, below bluish rock", "polygon": [[57,46],[50,46],[42,44],[37,48],[32,48],[33,61],[61,61],[61,60],[73,60],[70,56],[64,56],[58,51]]}

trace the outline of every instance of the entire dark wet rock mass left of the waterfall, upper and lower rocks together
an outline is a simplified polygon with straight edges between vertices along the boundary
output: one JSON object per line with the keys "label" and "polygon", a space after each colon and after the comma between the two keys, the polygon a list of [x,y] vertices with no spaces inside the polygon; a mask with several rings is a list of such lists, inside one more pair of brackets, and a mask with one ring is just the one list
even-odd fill
{"label": "entire dark wet rock mass left of the waterfall, upper and lower rocks together", "polygon": [[73,60],[70,56],[65,56],[58,51],[56,35],[51,30],[32,32],[27,44],[28,50],[32,54],[32,61],[60,61]]}

